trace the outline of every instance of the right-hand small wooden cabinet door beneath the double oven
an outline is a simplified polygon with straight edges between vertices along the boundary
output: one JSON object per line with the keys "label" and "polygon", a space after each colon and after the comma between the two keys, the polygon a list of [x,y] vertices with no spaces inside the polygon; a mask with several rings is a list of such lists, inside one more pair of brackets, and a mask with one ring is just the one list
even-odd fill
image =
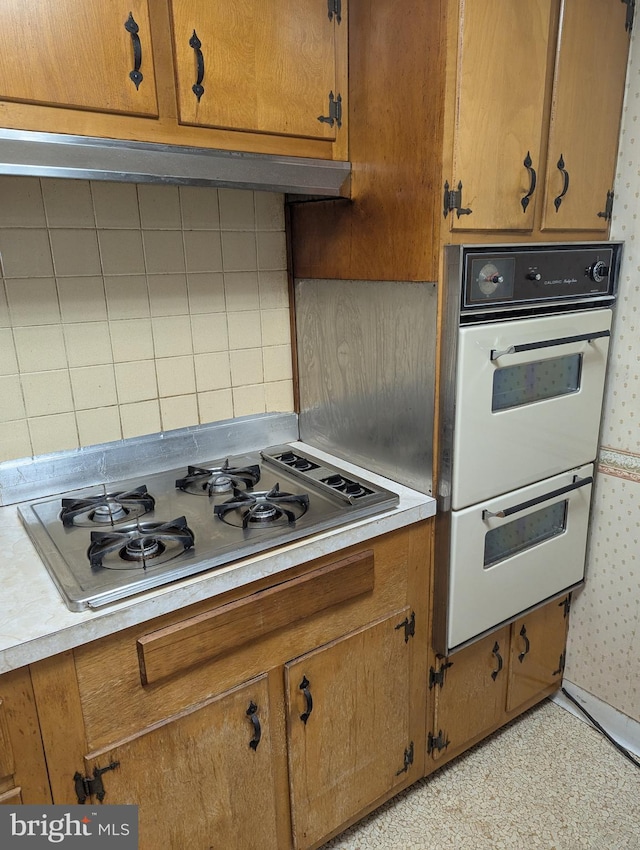
{"label": "right-hand small wooden cabinet door beneath the double oven", "polygon": [[560,684],[567,640],[568,601],[550,602],[511,625],[507,711]]}

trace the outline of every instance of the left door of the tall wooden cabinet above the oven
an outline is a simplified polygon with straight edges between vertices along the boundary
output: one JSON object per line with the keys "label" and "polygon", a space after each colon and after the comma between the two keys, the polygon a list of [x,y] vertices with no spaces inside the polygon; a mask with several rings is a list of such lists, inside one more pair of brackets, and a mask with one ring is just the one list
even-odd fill
{"label": "left door of the tall wooden cabinet above the oven", "polygon": [[449,213],[450,226],[531,230],[552,0],[460,5],[451,188],[462,183],[470,213]]}

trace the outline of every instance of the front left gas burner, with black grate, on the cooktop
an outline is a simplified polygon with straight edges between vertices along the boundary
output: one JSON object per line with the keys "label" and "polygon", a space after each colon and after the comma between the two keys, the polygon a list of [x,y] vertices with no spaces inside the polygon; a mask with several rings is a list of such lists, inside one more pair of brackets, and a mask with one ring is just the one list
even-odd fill
{"label": "front left gas burner, with black grate, on the cooktop", "polygon": [[146,570],[191,549],[194,541],[183,516],[170,522],[135,522],[116,531],[92,531],[87,556],[94,568]]}

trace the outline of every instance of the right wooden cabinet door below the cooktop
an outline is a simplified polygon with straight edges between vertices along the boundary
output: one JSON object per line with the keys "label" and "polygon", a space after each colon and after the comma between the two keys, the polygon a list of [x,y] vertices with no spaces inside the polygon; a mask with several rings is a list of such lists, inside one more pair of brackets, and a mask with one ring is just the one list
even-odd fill
{"label": "right wooden cabinet door below the cooktop", "polygon": [[407,778],[414,639],[401,624],[409,617],[407,608],[285,667],[296,850]]}

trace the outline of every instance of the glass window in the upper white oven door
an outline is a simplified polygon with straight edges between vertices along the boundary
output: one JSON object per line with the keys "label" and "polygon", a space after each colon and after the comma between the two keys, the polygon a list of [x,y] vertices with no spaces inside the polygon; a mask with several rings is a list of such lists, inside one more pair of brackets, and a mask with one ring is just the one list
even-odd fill
{"label": "glass window in the upper white oven door", "polygon": [[546,398],[569,395],[580,389],[582,354],[519,363],[496,369],[491,410],[509,410]]}

